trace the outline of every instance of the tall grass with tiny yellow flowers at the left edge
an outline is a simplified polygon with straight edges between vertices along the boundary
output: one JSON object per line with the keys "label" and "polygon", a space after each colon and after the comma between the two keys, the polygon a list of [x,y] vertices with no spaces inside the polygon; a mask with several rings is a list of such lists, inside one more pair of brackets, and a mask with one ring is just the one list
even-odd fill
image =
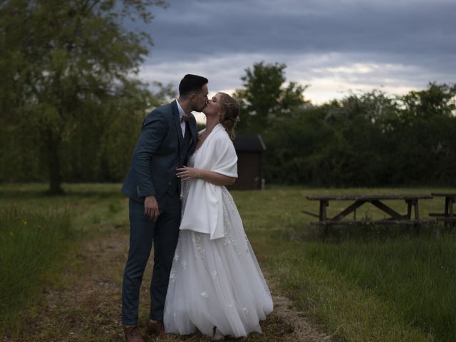
{"label": "tall grass with tiny yellow flowers at the left edge", "polygon": [[[16,320],[58,266],[73,237],[65,210],[0,209],[0,321]],[[57,261],[57,262],[56,262]]]}

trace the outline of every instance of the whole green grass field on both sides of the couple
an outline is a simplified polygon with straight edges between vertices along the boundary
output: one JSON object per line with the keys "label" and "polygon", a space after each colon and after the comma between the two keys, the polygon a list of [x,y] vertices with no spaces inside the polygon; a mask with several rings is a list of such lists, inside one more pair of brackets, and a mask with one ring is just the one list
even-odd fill
{"label": "whole green grass field on both sides of the couple", "polygon": [[[71,265],[68,254],[81,239],[128,229],[119,187],[65,185],[66,196],[46,197],[46,185],[0,185],[0,272],[14,273],[1,280],[0,294],[18,299],[17,306],[6,305],[1,297],[2,323],[21,307],[39,305],[43,287],[58,286],[58,265]],[[232,195],[261,267],[333,341],[456,341],[455,232],[358,227],[333,229],[323,240],[320,229],[310,226],[312,218],[301,213],[318,210],[318,202],[305,195],[431,191],[444,190],[271,187]],[[405,212],[403,201],[392,203]],[[420,205],[424,217],[442,211],[443,200]],[[331,203],[328,212],[338,209]],[[382,214],[361,207],[358,217]],[[16,291],[17,284],[24,290]]]}

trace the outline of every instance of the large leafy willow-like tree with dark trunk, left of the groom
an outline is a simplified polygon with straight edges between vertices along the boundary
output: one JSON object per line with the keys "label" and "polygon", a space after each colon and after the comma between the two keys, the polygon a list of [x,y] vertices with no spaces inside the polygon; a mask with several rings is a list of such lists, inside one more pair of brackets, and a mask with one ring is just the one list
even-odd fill
{"label": "large leafy willow-like tree with dark trunk, left of the groom", "polygon": [[[150,22],[161,0],[16,0],[0,4],[1,122],[36,137],[46,158],[49,192],[62,192],[68,137],[87,120],[109,120],[117,103],[150,105],[133,76],[152,46],[125,20]],[[138,91],[137,91],[138,90]],[[122,98],[135,100],[122,101]],[[138,105],[139,104],[139,105]],[[125,108],[126,109],[126,108]]]}

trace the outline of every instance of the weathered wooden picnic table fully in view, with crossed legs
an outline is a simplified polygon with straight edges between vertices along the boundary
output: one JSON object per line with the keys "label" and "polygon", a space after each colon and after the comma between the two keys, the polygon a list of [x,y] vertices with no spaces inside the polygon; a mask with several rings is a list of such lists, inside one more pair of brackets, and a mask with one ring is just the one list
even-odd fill
{"label": "weathered wooden picnic table fully in view, with crossed legs", "polygon": [[[318,225],[332,225],[332,224],[420,224],[424,222],[435,222],[435,219],[420,219],[420,210],[418,203],[420,199],[432,199],[430,194],[405,194],[405,195],[323,195],[323,196],[306,196],[306,199],[311,201],[320,202],[320,212],[319,214],[314,214],[311,212],[306,212],[305,214],[310,214],[311,216],[318,217],[318,222],[311,222],[311,224]],[[387,200],[404,200],[407,204],[407,213],[400,214],[391,208],[385,201]],[[330,201],[355,201],[352,204],[348,205],[346,209],[343,209],[341,212],[336,214],[336,216],[328,218],[326,213],[326,207],[328,207]],[[347,221],[343,220],[348,214],[352,212],[356,213],[356,209],[361,207],[363,204],[371,203],[378,209],[388,214],[387,219],[372,220],[372,221]],[[412,209],[414,215],[412,217]],[[355,217],[356,219],[356,217]]]}

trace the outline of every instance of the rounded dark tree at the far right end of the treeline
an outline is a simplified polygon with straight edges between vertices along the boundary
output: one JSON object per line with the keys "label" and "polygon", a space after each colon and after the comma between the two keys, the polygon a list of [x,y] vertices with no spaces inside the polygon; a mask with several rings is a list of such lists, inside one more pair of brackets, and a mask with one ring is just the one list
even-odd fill
{"label": "rounded dark tree at the far right end of the treeline", "polygon": [[[399,182],[454,183],[456,166],[456,84],[429,83],[427,89],[410,91],[390,132],[398,146],[393,158]],[[408,176],[408,177],[407,177]]]}

